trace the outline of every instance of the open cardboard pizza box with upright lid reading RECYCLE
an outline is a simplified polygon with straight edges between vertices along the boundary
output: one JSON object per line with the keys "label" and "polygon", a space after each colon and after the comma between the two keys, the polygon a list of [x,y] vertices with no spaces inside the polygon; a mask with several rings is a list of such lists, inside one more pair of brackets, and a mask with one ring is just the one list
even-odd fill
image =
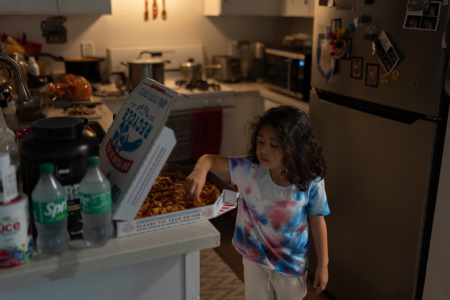
{"label": "open cardboard pizza box with upright lid reading RECYCLE", "polygon": [[237,192],[211,173],[208,182],[217,183],[222,191],[214,204],[134,219],[175,146],[175,135],[165,122],[177,95],[155,80],[143,79],[125,99],[100,144],[100,167],[111,183],[117,237],[209,219],[236,205]]}

